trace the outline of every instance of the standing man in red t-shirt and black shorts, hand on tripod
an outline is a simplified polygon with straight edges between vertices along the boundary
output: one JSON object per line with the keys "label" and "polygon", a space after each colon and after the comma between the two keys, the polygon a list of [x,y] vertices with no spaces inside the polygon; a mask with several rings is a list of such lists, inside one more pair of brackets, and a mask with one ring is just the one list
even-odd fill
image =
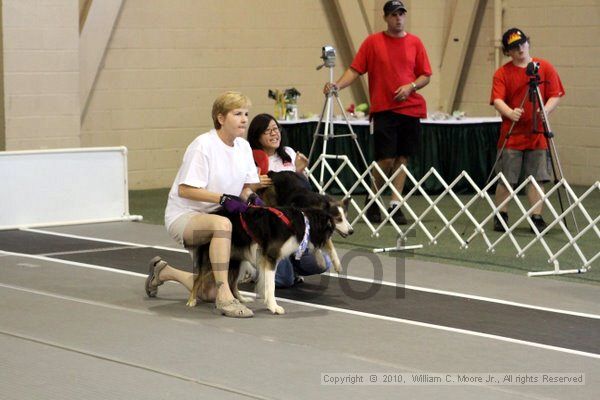
{"label": "standing man in red t-shirt and black shorts, hand on tripod", "polygon": [[[369,75],[371,121],[374,131],[374,158],[381,169],[392,175],[400,165],[407,164],[410,156],[419,149],[420,118],[427,116],[423,96],[417,90],[429,83],[431,66],[421,40],[404,30],[406,7],[401,1],[392,0],[383,7],[387,30],[370,35],[360,46],[350,68],[335,83],[325,84],[323,92],[341,90],[360,75]],[[375,173],[375,188],[383,180]],[[401,173],[393,181],[402,193],[406,174]],[[400,204],[392,195],[388,212]],[[377,207],[367,210],[367,218],[380,222]],[[397,224],[407,223],[401,210],[393,215]]]}

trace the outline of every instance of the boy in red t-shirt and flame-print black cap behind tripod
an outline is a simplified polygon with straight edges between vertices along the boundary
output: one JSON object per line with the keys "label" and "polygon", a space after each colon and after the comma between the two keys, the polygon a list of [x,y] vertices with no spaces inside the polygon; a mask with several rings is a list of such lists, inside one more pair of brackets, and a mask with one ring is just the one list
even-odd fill
{"label": "boy in red t-shirt and flame-print black cap behind tripod", "polygon": [[[538,183],[550,180],[549,161],[547,156],[548,143],[543,134],[542,116],[539,105],[535,110],[537,126],[533,126],[533,104],[529,99],[529,81],[527,74],[529,63],[538,63],[539,92],[544,102],[544,108],[549,115],[556,109],[565,90],[558,73],[548,61],[533,58],[529,54],[529,38],[517,28],[511,28],[502,35],[502,49],[511,61],[500,67],[494,74],[490,104],[502,115],[502,127],[498,140],[498,149],[506,147],[502,152],[496,173],[502,172],[506,180],[515,186],[521,172],[525,176],[532,175]],[[507,133],[514,127],[508,139]],[[507,188],[499,183],[496,186],[496,204],[501,204],[509,196]],[[532,185],[527,188],[527,198],[531,206],[537,203],[541,196]],[[538,231],[546,228],[542,218],[542,204],[535,207],[531,219]],[[500,209],[500,216],[508,223],[508,204]],[[494,230],[504,231],[498,217],[494,217]],[[533,231],[533,229],[532,229]]]}

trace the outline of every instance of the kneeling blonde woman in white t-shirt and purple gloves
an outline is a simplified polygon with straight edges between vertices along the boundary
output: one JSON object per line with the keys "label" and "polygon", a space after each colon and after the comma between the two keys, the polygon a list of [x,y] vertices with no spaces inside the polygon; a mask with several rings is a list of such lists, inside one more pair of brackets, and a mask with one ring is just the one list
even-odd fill
{"label": "kneeling blonde woman in white t-shirt and purple gloves", "polygon": [[[165,226],[178,243],[197,249],[210,242],[215,286],[202,288],[201,295],[204,300],[214,300],[217,310],[229,317],[251,317],[253,313],[233,297],[228,284],[231,222],[210,213],[221,206],[230,212],[244,212],[247,200],[256,198],[252,190],[261,181],[269,183],[266,177],[259,178],[252,150],[243,138],[249,106],[250,100],[238,92],[223,93],[215,100],[215,129],[198,136],[188,146],[165,210]],[[191,290],[194,276],[173,268],[160,257],[152,259],[146,280],[148,296],[156,296],[158,286],[169,280]]]}

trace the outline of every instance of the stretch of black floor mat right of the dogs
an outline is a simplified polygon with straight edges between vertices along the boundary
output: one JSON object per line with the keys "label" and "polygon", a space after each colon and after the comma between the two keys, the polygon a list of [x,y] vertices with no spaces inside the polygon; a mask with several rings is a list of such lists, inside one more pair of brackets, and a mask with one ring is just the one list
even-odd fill
{"label": "stretch of black floor mat right of the dogs", "polygon": [[410,289],[401,292],[374,283],[310,276],[300,285],[277,290],[277,297],[600,354],[598,319]]}

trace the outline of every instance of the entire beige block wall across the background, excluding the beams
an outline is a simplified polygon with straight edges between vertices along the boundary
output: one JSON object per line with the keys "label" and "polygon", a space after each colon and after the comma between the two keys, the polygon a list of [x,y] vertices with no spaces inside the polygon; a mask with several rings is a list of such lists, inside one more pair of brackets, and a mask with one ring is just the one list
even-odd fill
{"label": "entire beige block wall across the background, excluding the beams", "polygon": [[[79,140],[73,32],[82,1],[3,1],[7,149],[126,145],[132,188],[171,184],[187,144],[211,128],[210,106],[218,93],[247,93],[255,114],[273,111],[268,89],[293,86],[302,93],[301,113],[319,113],[328,79],[327,71],[315,71],[321,46],[338,49],[336,77],[353,56],[333,0],[126,0]],[[375,31],[384,27],[383,3],[362,0]],[[440,63],[456,3],[405,1],[408,30],[421,37],[433,67],[431,84],[423,90],[430,112],[440,103]],[[567,96],[552,126],[565,175],[572,183],[600,179],[600,5],[594,0],[503,3],[503,29],[522,28],[532,37],[532,53],[549,59],[563,79]],[[490,116],[492,0],[474,35],[456,108]],[[359,93],[344,90],[343,103],[362,101],[355,98]]]}

